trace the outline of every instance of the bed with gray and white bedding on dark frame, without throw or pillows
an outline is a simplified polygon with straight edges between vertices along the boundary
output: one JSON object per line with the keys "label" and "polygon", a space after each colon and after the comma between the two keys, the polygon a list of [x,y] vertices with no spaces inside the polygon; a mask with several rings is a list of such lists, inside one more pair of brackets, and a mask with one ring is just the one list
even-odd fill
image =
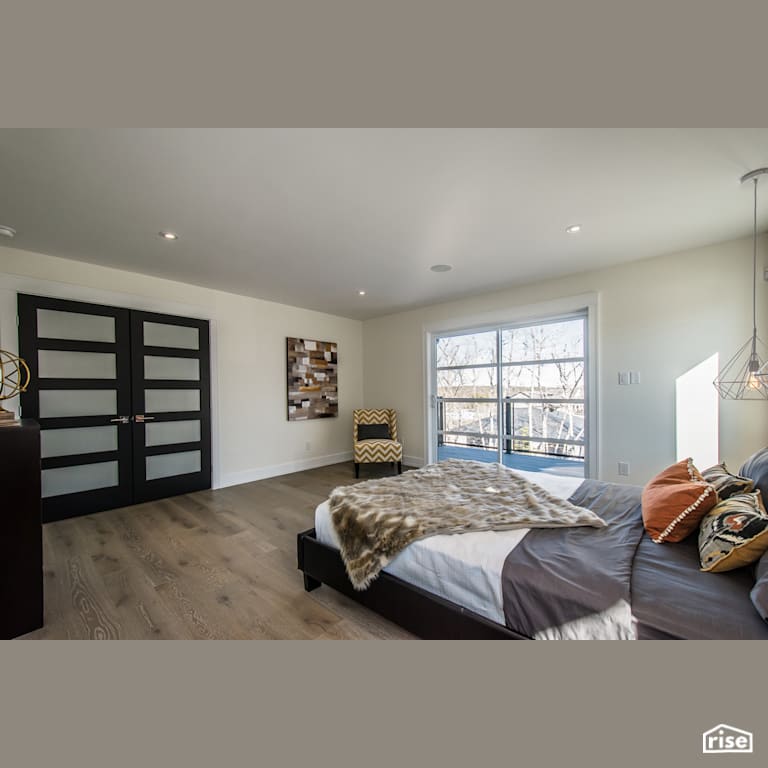
{"label": "bed with gray and white bedding on dark frame, without throw or pillows", "polygon": [[325,501],[298,536],[305,589],[326,584],[423,638],[768,639],[749,597],[752,570],[702,572],[695,537],[652,542],[642,488],[518,475],[609,525],[429,536],[357,590]]}

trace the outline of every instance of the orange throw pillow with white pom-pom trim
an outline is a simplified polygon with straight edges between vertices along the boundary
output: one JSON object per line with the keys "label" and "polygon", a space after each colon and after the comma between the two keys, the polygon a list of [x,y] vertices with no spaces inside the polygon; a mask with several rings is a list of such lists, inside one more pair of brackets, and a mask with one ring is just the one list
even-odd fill
{"label": "orange throw pillow with white pom-pom trim", "polygon": [[717,491],[693,465],[678,461],[643,488],[643,525],[657,543],[682,541],[717,504]]}

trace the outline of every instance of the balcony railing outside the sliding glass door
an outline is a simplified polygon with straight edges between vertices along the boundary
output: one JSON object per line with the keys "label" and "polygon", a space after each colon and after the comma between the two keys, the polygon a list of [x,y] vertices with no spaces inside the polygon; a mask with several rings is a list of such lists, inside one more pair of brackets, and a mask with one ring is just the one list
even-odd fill
{"label": "balcony railing outside the sliding glass door", "polygon": [[[466,445],[467,447],[491,449],[496,447],[498,434],[495,430],[483,430],[483,419],[478,419],[480,430],[446,428],[445,405],[446,403],[488,403],[495,404],[498,401],[493,398],[461,398],[438,397],[437,398],[437,444],[442,445]],[[517,423],[516,409],[529,411],[530,406],[563,406],[581,405],[583,399],[551,399],[551,398],[502,398],[502,450],[506,454],[530,453],[540,456],[561,456],[574,459],[584,459],[586,440],[583,426],[578,430],[577,437],[550,437],[548,435],[531,435],[519,432],[515,429]],[[583,414],[580,414],[583,419]],[[458,442],[450,438],[465,438]],[[493,443],[493,445],[491,445]],[[539,446],[534,448],[533,445]]]}

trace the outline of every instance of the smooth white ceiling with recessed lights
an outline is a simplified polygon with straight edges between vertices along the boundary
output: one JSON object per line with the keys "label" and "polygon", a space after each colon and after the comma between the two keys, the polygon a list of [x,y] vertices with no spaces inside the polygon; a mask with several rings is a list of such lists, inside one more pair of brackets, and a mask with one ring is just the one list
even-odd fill
{"label": "smooth white ceiling with recessed lights", "polygon": [[764,165],[766,129],[4,129],[0,224],[364,319],[748,235]]}

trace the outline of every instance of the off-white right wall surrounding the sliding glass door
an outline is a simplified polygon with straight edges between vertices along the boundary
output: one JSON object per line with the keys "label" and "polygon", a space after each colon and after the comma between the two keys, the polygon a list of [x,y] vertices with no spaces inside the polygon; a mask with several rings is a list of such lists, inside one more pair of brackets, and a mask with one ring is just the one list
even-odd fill
{"label": "off-white right wall surrounding the sliding glass door", "polygon": [[[758,333],[768,337],[766,242],[758,254]],[[599,471],[618,461],[642,484],[675,461],[675,381],[719,353],[727,360],[752,332],[751,238],[437,304],[363,324],[368,408],[394,407],[410,462],[425,446],[427,329],[515,319],[518,308],[597,292]],[[641,384],[619,386],[619,371]],[[720,456],[733,469],[768,444],[767,401],[720,401]]]}

